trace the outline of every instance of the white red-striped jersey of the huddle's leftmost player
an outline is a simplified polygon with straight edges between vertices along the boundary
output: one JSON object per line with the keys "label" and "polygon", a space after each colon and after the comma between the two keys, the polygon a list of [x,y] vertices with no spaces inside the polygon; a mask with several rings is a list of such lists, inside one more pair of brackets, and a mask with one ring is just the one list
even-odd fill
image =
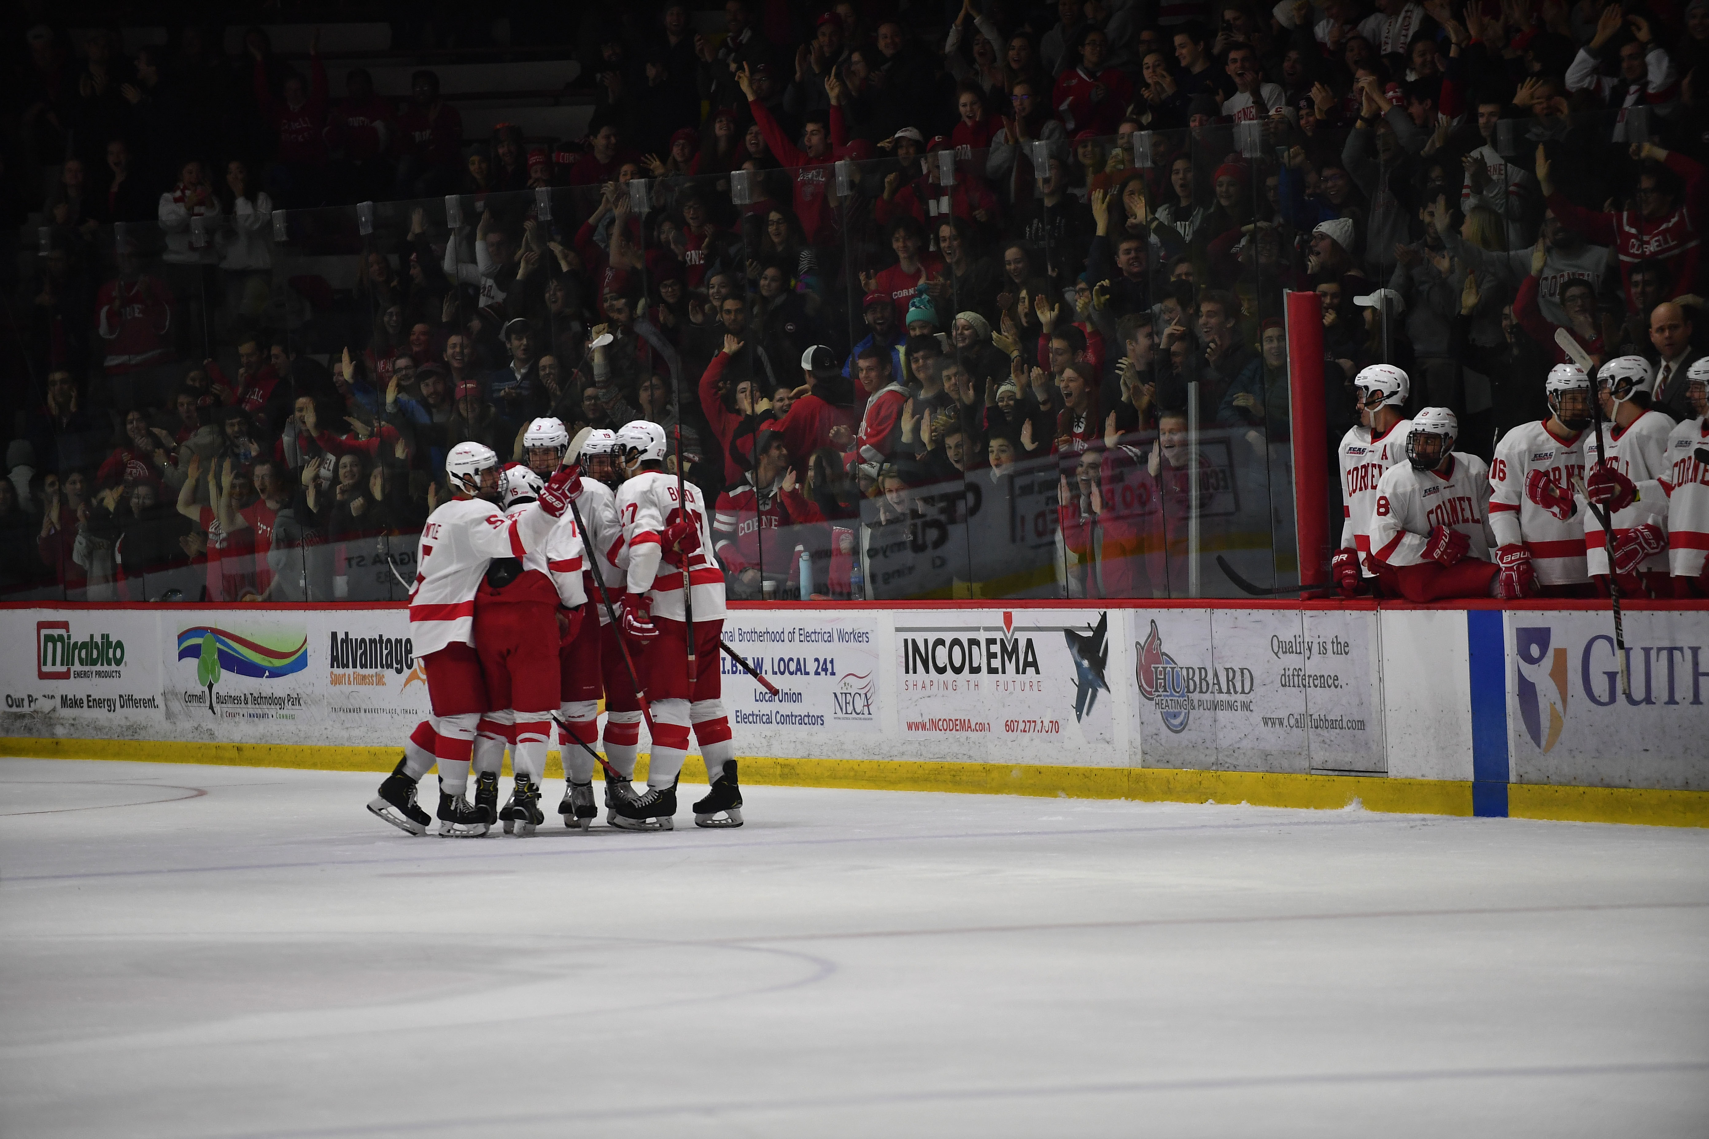
{"label": "white red-striped jersey of the huddle's leftmost player", "polygon": [[506,516],[485,499],[453,499],[427,517],[410,589],[415,656],[448,644],[475,644],[475,593],[492,558],[521,558],[557,519],[538,504]]}

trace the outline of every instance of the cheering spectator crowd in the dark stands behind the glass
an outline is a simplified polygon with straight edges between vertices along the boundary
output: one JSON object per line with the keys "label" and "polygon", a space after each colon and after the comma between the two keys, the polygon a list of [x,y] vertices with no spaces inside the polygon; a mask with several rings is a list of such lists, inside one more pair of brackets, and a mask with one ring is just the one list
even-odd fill
{"label": "cheering spectator crowd in the dark stands behind the glass", "polygon": [[665,427],[733,596],[1285,581],[1289,290],[1331,442],[1388,362],[1487,459],[1557,330],[1688,415],[1709,0],[588,9],[569,138],[14,20],[0,589],[402,598],[537,417]]}

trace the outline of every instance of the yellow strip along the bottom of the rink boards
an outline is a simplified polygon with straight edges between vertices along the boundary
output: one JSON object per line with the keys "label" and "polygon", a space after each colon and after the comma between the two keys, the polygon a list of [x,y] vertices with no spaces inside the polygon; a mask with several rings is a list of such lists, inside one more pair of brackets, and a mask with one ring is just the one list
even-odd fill
{"label": "yellow strip along the bottom of the rink boards", "polygon": [[[294,767],[323,772],[390,772],[398,762],[398,748],[17,736],[0,736],[0,755],[44,760]],[[754,786],[942,791],[1145,803],[1248,803],[1251,806],[1319,811],[1336,811],[1359,804],[1367,811],[1401,815],[1471,815],[1471,784],[1465,780],[1198,772],[1150,767],[738,758],[742,782]],[[545,774],[549,779],[564,777],[557,751],[549,753]],[[646,756],[636,765],[636,779],[646,779]],[[704,784],[706,765],[690,756],[682,768],[682,779],[689,784]],[[1709,827],[1709,792],[1704,791],[1511,784],[1507,787],[1507,809],[1514,818]]]}

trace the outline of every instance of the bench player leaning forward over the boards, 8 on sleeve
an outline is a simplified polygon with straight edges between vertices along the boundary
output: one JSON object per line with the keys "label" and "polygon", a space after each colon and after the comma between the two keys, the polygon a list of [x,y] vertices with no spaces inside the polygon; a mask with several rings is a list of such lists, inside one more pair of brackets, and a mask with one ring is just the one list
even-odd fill
{"label": "bench player leaning forward over the boards, 8 on sleeve", "polygon": [[1389,596],[1490,596],[1489,468],[1475,454],[1454,451],[1458,435],[1453,412],[1424,408],[1407,432],[1407,461],[1377,482],[1371,557]]}

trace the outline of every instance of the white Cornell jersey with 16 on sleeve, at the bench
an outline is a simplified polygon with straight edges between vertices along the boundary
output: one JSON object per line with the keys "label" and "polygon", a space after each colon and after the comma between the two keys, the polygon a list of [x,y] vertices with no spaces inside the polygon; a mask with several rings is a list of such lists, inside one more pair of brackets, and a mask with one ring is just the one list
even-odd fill
{"label": "white Cornell jersey with 16 on sleeve, at the bench", "polygon": [[1531,502],[1526,485],[1531,471],[1543,471],[1565,494],[1584,478],[1584,437],[1560,439],[1548,420],[1521,423],[1495,444],[1490,464],[1490,529],[1497,546],[1523,541],[1531,552],[1531,569],[1545,586],[1569,586],[1589,581],[1584,569],[1584,507],[1569,519]]}

